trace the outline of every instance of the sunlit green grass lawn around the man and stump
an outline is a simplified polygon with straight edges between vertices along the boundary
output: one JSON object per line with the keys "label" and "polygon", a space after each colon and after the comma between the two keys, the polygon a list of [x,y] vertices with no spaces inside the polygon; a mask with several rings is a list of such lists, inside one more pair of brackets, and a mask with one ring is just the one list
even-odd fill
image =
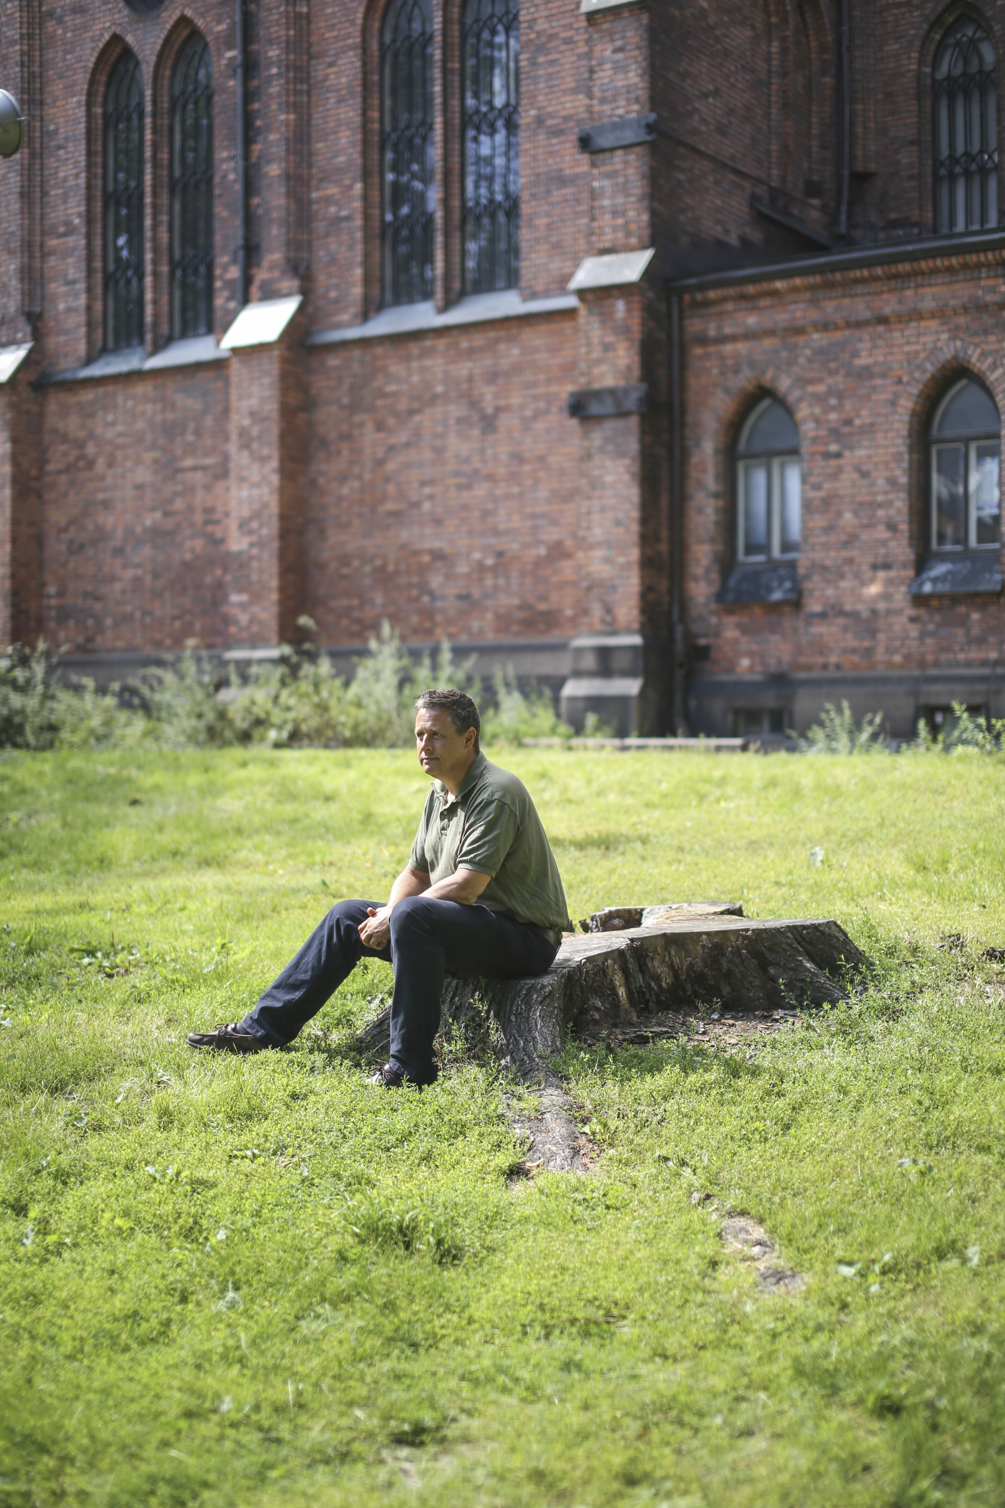
{"label": "sunlit green grass lawn around the man and stump", "polygon": [[0,756],[0,1508],[1005,1500],[1005,766],[499,757],[574,917],[833,915],[868,991],[752,1057],[570,1044],[597,1172],[512,1179],[463,1045],[366,1083],[386,965],[289,1051],[184,1044],[383,897],[411,754]]}

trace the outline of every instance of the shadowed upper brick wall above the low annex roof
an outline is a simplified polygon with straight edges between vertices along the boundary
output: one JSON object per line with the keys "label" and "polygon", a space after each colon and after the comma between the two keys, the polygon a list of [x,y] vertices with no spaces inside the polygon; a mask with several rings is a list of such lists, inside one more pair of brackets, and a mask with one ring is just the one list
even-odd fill
{"label": "shadowed upper brick wall above the low annex roof", "polygon": [[[931,62],[960,6],[850,3],[848,229],[898,240],[931,234]],[[1005,8],[963,6],[1005,68]],[[628,21],[628,17],[624,18]],[[821,234],[841,198],[839,6],[836,0],[716,0],[651,8],[657,244],[808,252],[812,241],[750,207],[770,199]],[[628,110],[622,113],[630,113]],[[999,137],[1005,121],[999,121]],[[806,178],[821,181],[808,199]],[[699,270],[699,268],[695,268]]]}

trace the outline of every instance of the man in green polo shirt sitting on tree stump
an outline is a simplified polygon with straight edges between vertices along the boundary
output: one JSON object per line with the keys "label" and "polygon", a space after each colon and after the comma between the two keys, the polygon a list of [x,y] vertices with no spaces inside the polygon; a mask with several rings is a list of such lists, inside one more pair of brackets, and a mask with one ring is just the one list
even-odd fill
{"label": "man in green polo shirt sitting on tree stump", "polygon": [[416,700],[419,763],[432,789],[386,905],[341,900],[244,1021],[190,1031],[217,1053],[285,1047],[362,958],[395,965],[390,1060],[374,1084],[431,1084],[446,973],[524,979],[550,968],[571,923],[541,819],[520,780],[479,749],[463,691]]}

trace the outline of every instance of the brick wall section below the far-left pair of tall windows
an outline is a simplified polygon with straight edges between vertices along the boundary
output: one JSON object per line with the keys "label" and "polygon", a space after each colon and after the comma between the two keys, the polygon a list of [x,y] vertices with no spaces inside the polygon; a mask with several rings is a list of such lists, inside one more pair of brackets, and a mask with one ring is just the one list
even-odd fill
{"label": "brick wall section below the far-left pair of tall windows", "polygon": [[74,650],[223,641],[228,363],[44,397],[44,632]]}

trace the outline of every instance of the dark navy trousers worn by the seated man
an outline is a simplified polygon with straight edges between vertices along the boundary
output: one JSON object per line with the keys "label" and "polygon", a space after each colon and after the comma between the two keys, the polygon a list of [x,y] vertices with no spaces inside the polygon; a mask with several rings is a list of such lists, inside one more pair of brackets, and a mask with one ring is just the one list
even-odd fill
{"label": "dark navy trousers worn by the seated man", "polygon": [[526,979],[545,974],[556,949],[508,911],[407,896],[390,914],[390,946],[363,947],[359,933],[372,900],[341,900],[241,1022],[273,1047],[292,1042],[362,958],[395,965],[390,1066],[419,1084],[435,1078],[432,1039],[448,973],[460,979]]}

